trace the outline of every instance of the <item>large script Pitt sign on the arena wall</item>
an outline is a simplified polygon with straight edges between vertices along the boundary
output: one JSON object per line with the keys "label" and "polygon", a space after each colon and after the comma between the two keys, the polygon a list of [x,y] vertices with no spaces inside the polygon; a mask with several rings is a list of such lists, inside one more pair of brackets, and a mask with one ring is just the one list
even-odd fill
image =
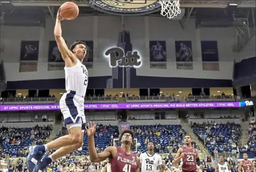
{"label": "large script Pitt sign on the arena wall", "polygon": [[105,51],[105,55],[109,56],[110,67],[140,67],[142,65],[141,56],[137,51],[129,51],[125,55],[122,48],[113,47]]}

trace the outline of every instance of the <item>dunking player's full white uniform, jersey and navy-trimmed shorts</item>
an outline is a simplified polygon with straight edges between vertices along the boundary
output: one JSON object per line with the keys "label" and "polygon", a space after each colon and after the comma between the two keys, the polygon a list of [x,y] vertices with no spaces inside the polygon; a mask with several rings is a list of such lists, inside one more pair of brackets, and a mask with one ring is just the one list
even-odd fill
{"label": "dunking player's full white uniform, jersey and navy-trimmed shorts", "polygon": [[82,127],[85,130],[85,94],[88,85],[88,71],[85,65],[77,59],[73,67],[64,67],[66,93],[59,101],[60,111],[67,128]]}

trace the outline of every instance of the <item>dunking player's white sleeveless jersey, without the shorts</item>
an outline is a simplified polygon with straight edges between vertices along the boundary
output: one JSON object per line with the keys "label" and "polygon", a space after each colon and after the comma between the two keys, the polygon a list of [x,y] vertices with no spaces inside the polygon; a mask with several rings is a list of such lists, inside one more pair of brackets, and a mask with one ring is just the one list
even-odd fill
{"label": "dunking player's white sleeveless jersey, without the shorts", "polygon": [[77,95],[85,96],[88,85],[88,71],[85,65],[77,59],[77,64],[75,66],[65,66],[64,70],[66,91],[76,91]]}

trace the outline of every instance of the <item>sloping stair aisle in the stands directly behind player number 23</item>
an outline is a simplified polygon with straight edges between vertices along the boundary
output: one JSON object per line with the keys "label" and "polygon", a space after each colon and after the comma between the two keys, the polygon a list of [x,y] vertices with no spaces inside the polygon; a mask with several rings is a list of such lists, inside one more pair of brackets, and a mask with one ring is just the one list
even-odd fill
{"label": "sloping stair aisle in the stands directly behind player number 23", "polygon": [[210,152],[207,150],[207,148],[204,147],[201,141],[199,141],[198,137],[194,134],[193,130],[190,128],[190,125],[188,124],[187,119],[181,119],[181,127],[183,130],[186,131],[186,133],[191,136],[191,139],[196,142],[202,153],[204,153],[204,157],[207,156],[207,154],[210,154]]}

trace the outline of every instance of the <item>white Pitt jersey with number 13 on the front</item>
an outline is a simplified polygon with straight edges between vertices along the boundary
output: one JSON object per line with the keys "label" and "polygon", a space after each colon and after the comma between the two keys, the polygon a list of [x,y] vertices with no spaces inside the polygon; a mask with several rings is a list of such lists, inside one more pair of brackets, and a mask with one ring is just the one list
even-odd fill
{"label": "white Pitt jersey with number 13 on the front", "polygon": [[162,158],[156,153],[149,155],[148,152],[144,152],[140,155],[140,160],[141,172],[157,172],[157,167],[162,165]]}

